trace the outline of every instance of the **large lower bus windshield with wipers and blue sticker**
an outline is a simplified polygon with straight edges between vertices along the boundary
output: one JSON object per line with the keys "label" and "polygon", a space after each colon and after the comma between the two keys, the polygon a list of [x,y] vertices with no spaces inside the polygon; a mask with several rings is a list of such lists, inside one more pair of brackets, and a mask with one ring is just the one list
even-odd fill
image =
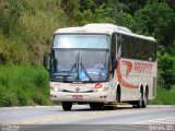
{"label": "large lower bus windshield with wipers and blue sticker", "polygon": [[107,81],[107,50],[54,49],[51,79],[61,82]]}

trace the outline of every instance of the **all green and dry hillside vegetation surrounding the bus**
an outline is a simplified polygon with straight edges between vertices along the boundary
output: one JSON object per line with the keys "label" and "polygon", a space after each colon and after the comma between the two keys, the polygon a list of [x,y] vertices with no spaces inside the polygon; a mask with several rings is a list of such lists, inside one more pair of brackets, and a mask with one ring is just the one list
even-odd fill
{"label": "all green and dry hillside vegetation surrounding the bus", "polygon": [[52,34],[88,23],[113,23],[155,37],[159,86],[151,104],[168,104],[165,94],[175,104],[174,0],[0,0],[0,106],[50,104],[48,72],[40,64]]}

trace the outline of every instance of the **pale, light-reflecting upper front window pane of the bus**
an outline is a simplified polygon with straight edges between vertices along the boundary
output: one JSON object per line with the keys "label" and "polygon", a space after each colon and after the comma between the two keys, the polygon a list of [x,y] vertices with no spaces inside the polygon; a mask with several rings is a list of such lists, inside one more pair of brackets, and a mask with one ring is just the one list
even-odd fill
{"label": "pale, light-reflecting upper front window pane of the bus", "polygon": [[54,48],[108,49],[108,35],[55,35]]}

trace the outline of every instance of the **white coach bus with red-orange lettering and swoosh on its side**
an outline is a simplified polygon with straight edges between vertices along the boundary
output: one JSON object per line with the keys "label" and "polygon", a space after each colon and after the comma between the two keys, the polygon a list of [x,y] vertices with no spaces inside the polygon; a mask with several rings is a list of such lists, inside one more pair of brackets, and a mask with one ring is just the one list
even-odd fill
{"label": "white coach bus with red-orange lettering and swoosh on its side", "polygon": [[[47,57],[45,57],[45,67]],[[156,43],[113,24],[88,24],[55,32],[50,53],[50,98],[63,110],[129,103],[147,107],[156,92]]]}

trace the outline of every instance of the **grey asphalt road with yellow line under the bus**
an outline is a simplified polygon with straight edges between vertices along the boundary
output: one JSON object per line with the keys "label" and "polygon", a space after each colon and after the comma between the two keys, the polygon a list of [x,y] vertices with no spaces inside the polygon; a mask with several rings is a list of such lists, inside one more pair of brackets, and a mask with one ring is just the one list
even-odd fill
{"label": "grey asphalt road with yellow line under the bus", "polygon": [[74,105],[71,111],[60,106],[0,108],[0,124],[2,131],[175,131],[175,106],[137,109],[121,105],[114,110],[91,110],[88,105]]}

